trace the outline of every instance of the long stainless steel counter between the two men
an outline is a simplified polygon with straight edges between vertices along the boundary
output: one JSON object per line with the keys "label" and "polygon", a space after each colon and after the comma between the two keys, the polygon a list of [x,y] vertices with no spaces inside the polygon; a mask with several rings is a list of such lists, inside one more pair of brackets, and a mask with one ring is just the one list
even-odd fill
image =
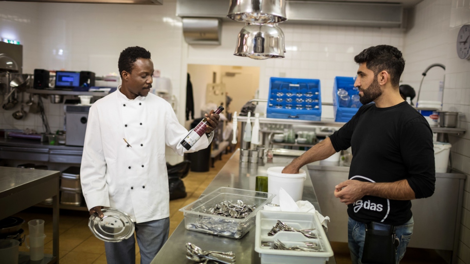
{"label": "long stainless steel counter between the two men", "polygon": [[[235,151],[233,156],[227,161],[214,180],[207,186],[202,195],[209,194],[219,187],[231,187],[237,189],[254,190],[255,176],[266,176],[267,169],[270,167],[286,166],[292,158],[274,156],[272,163],[250,165],[241,167],[239,163],[239,150]],[[308,175],[307,167],[303,169],[307,173],[307,179],[304,182],[304,191],[302,200],[307,200],[320,211],[317,196],[313,189],[312,181]],[[194,264],[186,258],[187,242],[200,246],[202,249],[233,251],[236,254],[236,263],[240,264],[259,264],[261,259],[258,252],[254,251],[254,228],[241,239],[233,239],[221,236],[214,236],[195,231],[189,231],[184,228],[184,220],[175,229],[168,241],[163,245],[160,252],[155,256],[152,264]],[[334,257],[330,258],[328,264],[336,264]]]}

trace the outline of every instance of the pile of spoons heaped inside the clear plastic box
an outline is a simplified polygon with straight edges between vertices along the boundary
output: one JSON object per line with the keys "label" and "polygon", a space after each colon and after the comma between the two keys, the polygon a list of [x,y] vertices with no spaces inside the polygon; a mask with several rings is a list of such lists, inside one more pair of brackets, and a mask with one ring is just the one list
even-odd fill
{"label": "pile of spoons heaped inside the clear plastic box", "polygon": [[205,213],[220,215],[231,218],[246,218],[256,209],[256,205],[247,205],[242,200],[217,203],[214,207],[203,210]]}

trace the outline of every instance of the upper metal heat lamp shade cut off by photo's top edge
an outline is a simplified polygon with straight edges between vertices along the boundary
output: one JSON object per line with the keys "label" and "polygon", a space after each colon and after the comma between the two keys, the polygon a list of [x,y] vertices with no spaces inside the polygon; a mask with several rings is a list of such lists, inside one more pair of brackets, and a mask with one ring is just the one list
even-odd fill
{"label": "upper metal heat lamp shade cut off by photo's top edge", "polygon": [[285,0],[230,0],[228,18],[247,23],[287,20]]}

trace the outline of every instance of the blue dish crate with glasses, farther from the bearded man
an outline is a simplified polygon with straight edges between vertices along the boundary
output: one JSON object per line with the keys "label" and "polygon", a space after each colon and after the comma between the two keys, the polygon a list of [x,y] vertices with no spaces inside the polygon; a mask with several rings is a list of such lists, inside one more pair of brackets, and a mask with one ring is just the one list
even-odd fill
{"label": "blue dish crate with glasses, farther from the bearded man", "polygon": [[320,80],[271,77],[266,112],[268,118],[320,121]]}

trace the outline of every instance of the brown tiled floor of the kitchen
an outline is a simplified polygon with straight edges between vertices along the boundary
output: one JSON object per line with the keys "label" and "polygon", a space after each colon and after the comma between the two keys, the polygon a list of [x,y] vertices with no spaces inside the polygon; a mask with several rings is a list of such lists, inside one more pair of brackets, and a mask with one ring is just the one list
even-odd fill
{"label": "brown tiled floor of the kitchen", "polygon": [[[209,172],[190,172],[183,181],[186,187],[187,197],[170,201],[170,236],[183,219],[182,212],[178,211],[183,206],[195,201],[206,189],[225,162],[231,157],[231,153],[222,155],[222,160],[215,162],[215,167]],[[45,253],[52,254],[52,211],[44,208],[30,208],[15,216],[23,218],[26,222],[32,219],[44,219],[46,224],[44,232]],[[104,242],[95,238],[88,228],[89,215],[85,211],[60,212],[59,217],[59,258],[63,264],[106,264]],[[26,225],[27,226],[27,225]],[[27,232],[27,228],[25,228]],[[27,234],[27,233],[26,233]],[[346,243],[332,242],[337,264],[351,264],[349,250]],[[28,251],[25,246],[21,251]],[[139,248],[136,245],[136,263],[140,263]],[[401,264],[445,264],[434,250],[409,248]]]}

